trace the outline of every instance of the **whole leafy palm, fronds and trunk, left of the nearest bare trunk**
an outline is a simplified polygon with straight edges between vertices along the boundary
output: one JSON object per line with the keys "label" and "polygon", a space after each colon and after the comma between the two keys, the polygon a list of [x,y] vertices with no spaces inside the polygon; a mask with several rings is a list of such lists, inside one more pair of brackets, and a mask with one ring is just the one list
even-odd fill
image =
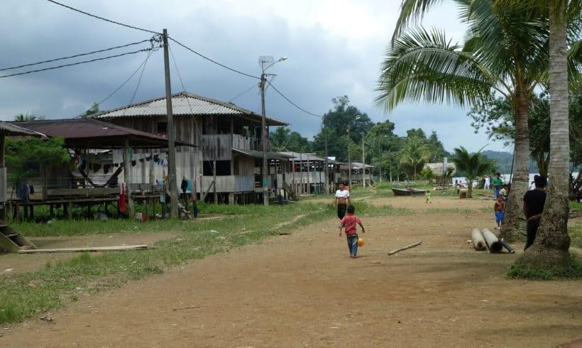
{"label": "whole leafy palm, fronds and trunk, left of the nearest bare trunk", "polygon": [[[525,6],[497,6],[490,0],[455,0],[461,19],[468,24],[463,45],[451,43],[444,33],[434,29],[406,30],[411,18],[440,2],[403,1],[378,80],[377,102],[388,110],[401,102],[418,101],[466,106],[489,99],[492,92],[510,100],[515,112],[515,165],[503,234],[512,237],[523,225],[521,197],[529,184],[530,99],[534,89],[547,82],[548,76],[547,17],[526,11]],[[571,75],[577,76],[576,60],[582,57],[570,58]]]}

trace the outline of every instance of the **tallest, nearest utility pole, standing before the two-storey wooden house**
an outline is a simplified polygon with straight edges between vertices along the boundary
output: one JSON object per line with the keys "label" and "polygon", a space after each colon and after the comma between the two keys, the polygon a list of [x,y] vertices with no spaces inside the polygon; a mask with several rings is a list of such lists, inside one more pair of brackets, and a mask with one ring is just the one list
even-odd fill
{"label": "tallest, nearest utility pole, standing before the two-storey wooden house", "polygon": [[165,72],[165,109],[168,114],[168,180],[170,180],[170,204],[172,218],[178,218],[178,184],[176,178],[176,139],[174,116],[172,115],[172,87],[170,84],[170,56],[168,55],[168,30],[162,32],[164,41],[164,72]]}

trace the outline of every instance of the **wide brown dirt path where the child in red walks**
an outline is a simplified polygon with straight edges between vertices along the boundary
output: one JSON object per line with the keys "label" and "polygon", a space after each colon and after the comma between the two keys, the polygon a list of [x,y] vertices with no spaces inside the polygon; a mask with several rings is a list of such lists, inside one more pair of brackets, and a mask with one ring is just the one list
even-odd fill
{"label": "wide brown dirt path where the child in red walks", "polygon": [[582,281],[507,281],[520,251],[468,246],[490,214],[365,219],[358,259],[336,221],[81,298],[53,322],[0,330],[0,345],[556,347],[582,338]]}

